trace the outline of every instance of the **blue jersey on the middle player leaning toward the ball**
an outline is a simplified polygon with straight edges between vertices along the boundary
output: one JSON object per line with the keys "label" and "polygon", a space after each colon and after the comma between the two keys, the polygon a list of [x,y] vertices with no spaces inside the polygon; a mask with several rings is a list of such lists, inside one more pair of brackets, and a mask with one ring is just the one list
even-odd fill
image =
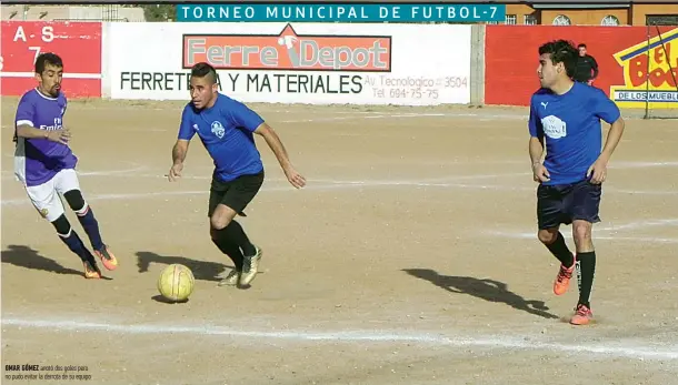
{"label": "blue jersey on the middle player leaning toward the ball", "polygon": [[215,161],[215,178],[232,181],[263,170],[253,132],[263,119],[243,103],[218,93],[211,108],[183,108],[179,139],[191,140],[196,133]]}

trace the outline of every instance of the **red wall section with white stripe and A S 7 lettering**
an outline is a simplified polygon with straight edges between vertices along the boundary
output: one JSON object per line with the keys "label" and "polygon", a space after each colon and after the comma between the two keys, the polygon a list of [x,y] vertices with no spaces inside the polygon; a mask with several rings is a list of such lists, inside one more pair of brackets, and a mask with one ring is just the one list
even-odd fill
{"label": "red wall section with white stripe and A S 7 lettering", "polygon": [[36,87],[36,58],[53,52],[63,60],[67,98],[100,98],[101,29],[100,22],[2,21],[2,95],[21,95]]}

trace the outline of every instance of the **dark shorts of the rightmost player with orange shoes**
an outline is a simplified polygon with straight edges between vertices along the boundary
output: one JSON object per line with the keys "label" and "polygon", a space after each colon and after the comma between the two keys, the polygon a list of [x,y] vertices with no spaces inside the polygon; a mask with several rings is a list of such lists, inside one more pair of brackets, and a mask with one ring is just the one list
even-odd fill
{"label": "dark shorts of the rightmost player with orange shoes", "polygon": [[598,210],[602,185],[588,180],[571,184],[539,185],[537,221],[539,230],[571,224],[572,221],[600,222]]}

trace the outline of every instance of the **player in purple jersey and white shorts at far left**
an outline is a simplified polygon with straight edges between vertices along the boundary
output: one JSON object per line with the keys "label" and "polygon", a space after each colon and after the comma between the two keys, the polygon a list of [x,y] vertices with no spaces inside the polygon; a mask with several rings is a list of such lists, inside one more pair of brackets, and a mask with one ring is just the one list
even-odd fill
{"label": "player in purple jersey and white shorts at far left", "polygon": [[38,87],[23,94],[17,107],[14,174],[40,215],[49,221],[59,239],[76,253],[84,266],[84,277],[100,278],[101,271],[78,233],[64,215],[59,195],[76,212],[91,242],[94,254],[108,270],[118,260],[101,240],[99,223],[80,191],[76,173],[78,158],[68,146],[70,131],[63,126],[67,109],[61,92],[63,62],[54,53],[42,53],[36,60]]}

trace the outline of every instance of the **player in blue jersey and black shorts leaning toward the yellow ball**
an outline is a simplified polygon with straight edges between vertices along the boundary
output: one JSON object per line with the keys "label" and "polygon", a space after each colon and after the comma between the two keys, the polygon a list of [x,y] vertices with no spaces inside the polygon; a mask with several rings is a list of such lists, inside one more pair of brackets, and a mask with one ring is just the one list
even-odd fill
{"label": "player in blue jersey and black shorts leaning toward the yellow ball", "polygon": [[245,215],[245,207],[263,183],[263,163],[253,134],[266,140],[295,188],[305,186],[306,180],[292,166],[276,131],[255,111],[218,89],[217,72],[211,65],[193,65],[191,101],[181,114],[168,178],[171,182],[181,176],[190,140],[198,134],[215,162],[208,206],[210,236],[236,265],[219,285],[249,286],[258,272],[261,249],[250,242],[235,217]]}

